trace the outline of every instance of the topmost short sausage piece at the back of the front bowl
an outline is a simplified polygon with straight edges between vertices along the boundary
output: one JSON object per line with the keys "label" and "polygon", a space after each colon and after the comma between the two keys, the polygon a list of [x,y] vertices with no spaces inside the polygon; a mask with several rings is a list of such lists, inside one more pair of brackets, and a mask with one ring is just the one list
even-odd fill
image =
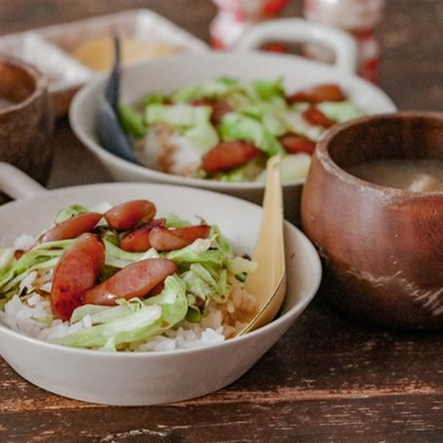
{"label": "topmost short sausage piece at the back of the front bowl", "polygon": [[147,223],[154,219],[156,207],[149,200],[132,200],[114,206],[105,213],[105,219],[110,228],[127,230],[138,223]]}

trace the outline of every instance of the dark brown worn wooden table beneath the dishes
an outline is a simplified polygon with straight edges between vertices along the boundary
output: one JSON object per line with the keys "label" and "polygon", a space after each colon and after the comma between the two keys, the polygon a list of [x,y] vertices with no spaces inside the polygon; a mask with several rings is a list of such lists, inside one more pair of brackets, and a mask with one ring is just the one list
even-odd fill
{"label": "dark brown worn wooden table beneath the dishes", "polygon": [[[134,7],[208,39],[208,0],[0,0],[0,32]],[[287,14],[300,9],[293,1]],[[380,84],[400,109],[442,109],[442,29],[441,0],[388,1]],[[53,143],[52,187],[108,178],[66,120]],[[327,291],[242,379],[179,404],[114,408],[64,399],[0,359],[0,442],[442,442],[443,335],[362,325],[330,308]]]}

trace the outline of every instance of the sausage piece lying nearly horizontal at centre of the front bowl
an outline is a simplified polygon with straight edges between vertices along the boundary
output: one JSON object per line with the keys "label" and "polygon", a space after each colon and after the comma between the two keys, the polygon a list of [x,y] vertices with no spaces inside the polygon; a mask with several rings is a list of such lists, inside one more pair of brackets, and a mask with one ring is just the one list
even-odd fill
{"label": "sausage piece lying nearly horizontal at centre of the front bowl", "polygon": [[85,291],[84,301],[94,305],[114,305],[119,298],[143,297],[175,272],[177,265],[166,258],[141,260]]}

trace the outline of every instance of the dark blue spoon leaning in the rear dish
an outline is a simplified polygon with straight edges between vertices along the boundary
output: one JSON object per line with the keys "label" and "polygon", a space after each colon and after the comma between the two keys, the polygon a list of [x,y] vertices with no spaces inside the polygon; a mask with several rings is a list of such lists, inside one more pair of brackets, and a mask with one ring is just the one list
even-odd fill
{"label": "dark blue spoon leaning in the rear dish", "polygon": [[98,103],[97,132],[100,143],[106,150],[127,161],[137,162],[132,143],[125,134],[118,119],[120,97],[120,40],[114,37],[114,66],[107,81],[105,91]]}

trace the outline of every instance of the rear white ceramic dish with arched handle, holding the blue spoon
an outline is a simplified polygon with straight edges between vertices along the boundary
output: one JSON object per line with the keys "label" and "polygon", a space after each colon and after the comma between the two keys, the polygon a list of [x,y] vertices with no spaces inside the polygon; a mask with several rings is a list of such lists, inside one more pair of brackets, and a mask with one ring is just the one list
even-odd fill
{"label": "rear white ceramic dish with arched handle, holding the blue spoon", "polygon": [[[334,49],[336,62],[334,66],[327,66],[294,55],[249,51],[269,39],[323,43]],[[336,83],[365,114],[395,110],[395,105],[385,93],[356,77],[356,45],[352,37],[339,30],[308,24],[301,19],[283,19],[253,28],[242,38],[237,50],[233,53],[177,55],[128,67],[123,70],[121,100],[131,103],[150,91],[172,93],[181,87],[226,75],[244,81],[281,76],[285,91],[296,91],[313,84]],[[194,186],[261,203],[263,183],[226,183],[165,174],[125,161],[105,150],[96,133],[98,98],[105,82],[106,78],[92,82],[75,96],[70,121],[76,136],[98,157],[114,179]],[[303,181],[284,186],[285,215],[291,221],[298,221]]]}

